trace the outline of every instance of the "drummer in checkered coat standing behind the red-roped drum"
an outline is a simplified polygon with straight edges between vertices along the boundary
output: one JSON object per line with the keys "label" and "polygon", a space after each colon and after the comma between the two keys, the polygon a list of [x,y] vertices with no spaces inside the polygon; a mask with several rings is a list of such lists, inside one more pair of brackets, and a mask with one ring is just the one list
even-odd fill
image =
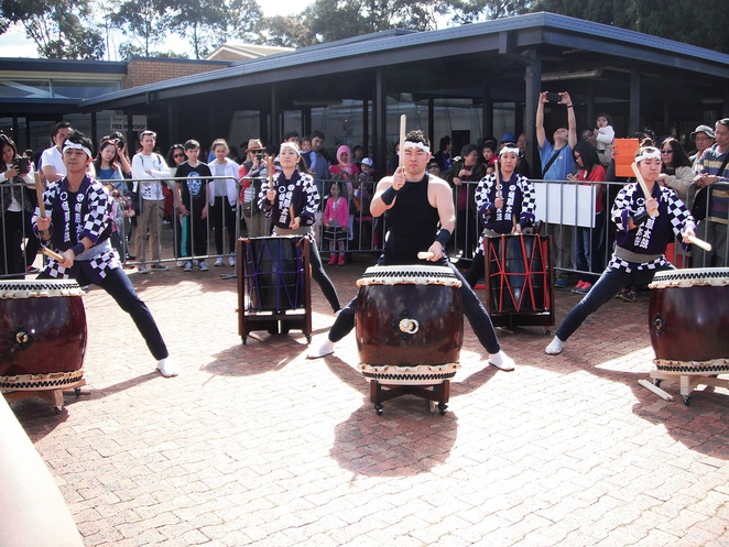
{"label": "drummer in checkered coat standing behind the red-roped drum", "polygon": [[[512,135],[513,136],[513,135]],[[536,194],[532,182],[516,173],[519,147],[513,142],[503,143],[499,151],[499,183],[496,173],[478,183],[475,193],[476,210],[483,227],[476,256],[466,281],[472,287],[485,273],[483,239],[502,233],[521,233],[534,222]]]}

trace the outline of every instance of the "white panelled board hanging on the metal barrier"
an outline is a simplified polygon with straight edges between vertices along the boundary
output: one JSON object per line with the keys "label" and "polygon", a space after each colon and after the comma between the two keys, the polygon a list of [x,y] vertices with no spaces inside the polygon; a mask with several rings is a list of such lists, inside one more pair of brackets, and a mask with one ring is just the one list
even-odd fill
{"label": "white panelled board hanging on the metal barrier", "polygon": [[534,182],[536,218],[552,225],[595,228],[592,185]]}

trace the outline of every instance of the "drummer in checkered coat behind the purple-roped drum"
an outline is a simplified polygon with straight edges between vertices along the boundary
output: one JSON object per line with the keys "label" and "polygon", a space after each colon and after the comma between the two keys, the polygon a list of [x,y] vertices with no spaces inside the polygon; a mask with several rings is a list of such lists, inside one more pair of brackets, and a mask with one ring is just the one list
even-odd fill
{"label": "drummer in checkered coat behind the purple-roped drum", "polygon": [[334,283],[322,265],[319,250],[314,240],[312,226],[319,211],[322,197],[314,177],[300,172],[296,166],[301,158],[298,146],[292,142],[281,143],[279,163],[281,171],[273,180],[265,179],[261,185],[259,207],[271,219],[275,236],[305,236],[309,240],[308,253],[312,277],[322,288],[324,297],[334,311],[341,308]]}

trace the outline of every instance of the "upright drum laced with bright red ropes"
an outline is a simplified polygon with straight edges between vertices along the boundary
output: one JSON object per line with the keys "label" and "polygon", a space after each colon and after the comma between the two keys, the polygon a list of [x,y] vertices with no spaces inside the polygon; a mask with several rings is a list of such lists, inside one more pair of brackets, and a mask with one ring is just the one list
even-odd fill
{"label": "upright drum laced with bright red ropes", "polygon": [[483,247],[487,310],[493,324],[554,325],[548,237],[504,234],[486,238]]}

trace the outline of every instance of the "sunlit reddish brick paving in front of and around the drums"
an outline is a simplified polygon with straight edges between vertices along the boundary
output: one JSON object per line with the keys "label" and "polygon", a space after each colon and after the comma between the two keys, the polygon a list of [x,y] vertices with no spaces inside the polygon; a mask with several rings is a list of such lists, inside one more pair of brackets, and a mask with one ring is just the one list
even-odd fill
{"label": "sunlit reddish brick paving in front of and around the drums", "polygon": [[[370,263],[329,269],[342,302]],[[377,416],[353,336],[317,361],[300,332],[243,346],[230,272],[130,271],[178,378],[91,288],[88,393],[61,416],[12,403],[86,546],[729,545],[729,393],[638,385],[645,302],[609,303],[558,357],[543,328],[501,332],[511,373],[466,326],[448,413],[405,396]],[[313,293],[316,342],[333,315]]]}

